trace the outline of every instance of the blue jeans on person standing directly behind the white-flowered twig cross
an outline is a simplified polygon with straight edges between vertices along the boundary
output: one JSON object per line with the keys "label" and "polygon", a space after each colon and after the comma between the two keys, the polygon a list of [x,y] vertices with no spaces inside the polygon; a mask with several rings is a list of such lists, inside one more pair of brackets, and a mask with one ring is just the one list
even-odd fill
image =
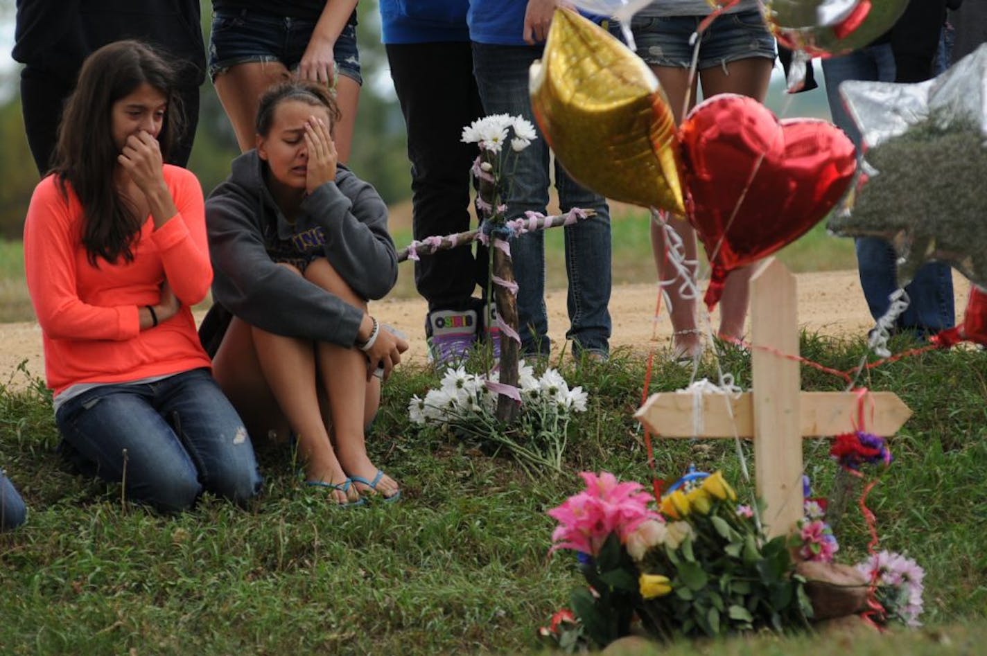
{"label": "blue jeans on person standing directly behind the white-flowered twig cross", "polygon": [[[488,114],[521,115],[536,125],[528,95],[528,68],[542,56],[542,45],[473,44],[473,71],[480,99]],[[562,211],[591,209],[596,216],[564,228],[566,272],[569,276],[569,331],[573,354],[606,354],[610,344],[610,209],[598,193],[574,182],[555,164],[556,188]],[[549,202],[550,150],[541,130],[522,150],[509,181],[507,218],[524,212],[545,212]],[[511,240],[521,351],[548,354],[548,315],[545,310],[545,234],[536,231]]]}

